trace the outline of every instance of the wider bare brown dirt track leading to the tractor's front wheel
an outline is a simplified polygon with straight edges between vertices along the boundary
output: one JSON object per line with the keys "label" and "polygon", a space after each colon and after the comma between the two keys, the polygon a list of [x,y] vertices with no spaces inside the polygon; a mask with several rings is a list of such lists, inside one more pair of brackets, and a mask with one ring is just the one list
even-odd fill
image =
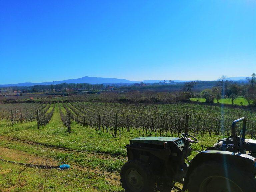
{"label": "wider bare brown dirt track leading to the tractor's front wheel", "polygon": [[[0,147],[0,159],[10,160],[14,162],[28,163],[33,165],[47,165],[47,166],[58,166],[57,161],[51,158],[39,157],[36,155],[31,155],[22,151],[8,149],[5,147]],[[107,171],[102,171],[99,168],[88,168],[81,167],[76,164],[70,164],[71,169],[77,171],[93,172],[99,176],[104,176],[107,181],[112,185],[120,185],[120,176],[115,173],[110,173]]]}

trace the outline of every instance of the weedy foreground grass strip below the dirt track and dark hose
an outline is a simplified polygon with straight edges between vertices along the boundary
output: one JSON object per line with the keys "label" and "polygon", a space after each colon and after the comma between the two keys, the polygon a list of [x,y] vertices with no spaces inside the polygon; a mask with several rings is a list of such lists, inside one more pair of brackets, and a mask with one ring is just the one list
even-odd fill
{"label": "weedy foreground grass strip below the dirt track and dark hose", "polygon": [[56,169],[37,169],[0,162],[1,169],[12,169],[12,172],[0,174],[0,191],[12,192],[98,192],[123,191],[120,186],[111,185],[104,175],[85,171]]}

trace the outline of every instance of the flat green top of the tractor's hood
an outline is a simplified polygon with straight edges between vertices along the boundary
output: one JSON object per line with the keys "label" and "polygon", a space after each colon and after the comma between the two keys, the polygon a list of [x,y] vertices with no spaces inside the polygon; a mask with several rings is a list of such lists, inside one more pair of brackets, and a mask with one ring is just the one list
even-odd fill
{"label": "flat green top of the tractor's hood", "polygon": [[165,143],[165,142],[176,141],[179,139],[181,139],[181,138],[178,138],[178,137],[137,137],[137,138],[131,139],[130,142],[163,145],[163,143]]}

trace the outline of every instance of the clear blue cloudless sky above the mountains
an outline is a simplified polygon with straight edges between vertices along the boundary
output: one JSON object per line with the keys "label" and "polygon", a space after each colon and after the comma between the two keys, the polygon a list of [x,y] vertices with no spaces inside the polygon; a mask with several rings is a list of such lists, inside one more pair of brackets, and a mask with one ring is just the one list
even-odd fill
{"label": "clear blue cloudless sky above the mountains", "polygon": [[0,84],[255,71],[254,0],[0,0]]}

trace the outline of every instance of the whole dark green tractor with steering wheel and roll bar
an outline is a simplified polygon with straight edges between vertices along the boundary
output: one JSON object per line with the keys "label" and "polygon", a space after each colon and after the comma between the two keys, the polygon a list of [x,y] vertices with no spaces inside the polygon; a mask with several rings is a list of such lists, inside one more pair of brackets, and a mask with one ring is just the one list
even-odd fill
{"label": "whole dark green tractor with steering wheel and roll bar", "polygon": [[[239,121],[243,129],[237,136]],[[152,192],[159,186],[161,191],[256,192],[256,140],[245,139],[245,132],[245,118],[233,121],[230,137],[199,152],[191,162],[190,145],[198,143],[192,135],[131,139],[125,147],[128,162],[120,173],[122,186],[127,192]]]}

